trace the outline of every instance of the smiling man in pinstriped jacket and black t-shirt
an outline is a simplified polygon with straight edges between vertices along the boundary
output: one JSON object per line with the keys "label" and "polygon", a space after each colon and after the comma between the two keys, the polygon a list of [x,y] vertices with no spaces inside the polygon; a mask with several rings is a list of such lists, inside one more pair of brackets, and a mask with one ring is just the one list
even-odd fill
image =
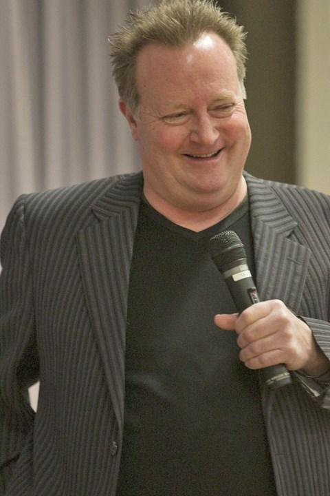
{"label": "smiling man in pinstriped jacket and black t-shirt", "polygon": [[[1,238],[5,495],[329,494],[330,198],[243,174],[244,33],[219,8],[162,1],[111,47],[142,173],[22,196]],[[239,316],[227,229],[263,300]]]}

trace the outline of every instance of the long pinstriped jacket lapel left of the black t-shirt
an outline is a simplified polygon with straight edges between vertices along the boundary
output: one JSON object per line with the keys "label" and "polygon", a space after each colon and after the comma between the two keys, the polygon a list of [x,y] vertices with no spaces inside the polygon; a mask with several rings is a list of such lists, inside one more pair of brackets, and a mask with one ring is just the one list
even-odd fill
{"label": "long pinstriped jacket lapel left of the black t-shirt", "polygon": [[78,236],[91,325],[100,347],[120,430],[124,417],[129,271],[141,192],[142,174],[118,180],[92,207],[98,220],[80,231]]}

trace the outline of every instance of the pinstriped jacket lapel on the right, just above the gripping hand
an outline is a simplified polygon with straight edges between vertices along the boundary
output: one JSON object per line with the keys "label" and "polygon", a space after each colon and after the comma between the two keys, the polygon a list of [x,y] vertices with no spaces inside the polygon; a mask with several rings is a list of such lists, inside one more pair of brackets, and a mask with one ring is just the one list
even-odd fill
{"label": "pinstriped jacket lapel on the right, just above the gripping hand", "polygon": [[273,189],[245,175],[250,198],[256,261],[256,285],[261,300],[283,300],[298,312],[307,276],[310,250],[296,242],[297,225]]}

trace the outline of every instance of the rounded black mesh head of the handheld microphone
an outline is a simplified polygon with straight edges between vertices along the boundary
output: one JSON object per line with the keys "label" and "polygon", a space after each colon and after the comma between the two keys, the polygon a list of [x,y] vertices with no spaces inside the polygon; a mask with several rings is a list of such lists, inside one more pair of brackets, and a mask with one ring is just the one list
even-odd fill
{"label": "rounded black mesh head of the handheld microphone", "polygon": [[244,245],[234,231],[223,231],[212,236],[210,251],[218,268],[246,258]]}

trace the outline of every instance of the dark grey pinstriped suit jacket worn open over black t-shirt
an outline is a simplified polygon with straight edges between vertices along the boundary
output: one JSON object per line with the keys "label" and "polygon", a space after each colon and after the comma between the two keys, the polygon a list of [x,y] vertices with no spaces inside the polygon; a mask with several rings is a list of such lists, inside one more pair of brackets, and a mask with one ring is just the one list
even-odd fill
{"label": "dark grey pinstriped suit jacket worn open over black t-shirt", "polygon": [[[330,355],[330,198],[246,175],[261,298],[305,318]],[[5,496],[114,496],[126,297],[142,174],[22,196],[1,238]],[[293,374],[295,375],[295,374]],[[34,415],[21,389],[40,377]],[[330,495],[330,392],[261,383],[279,496]],[[242,496],[250,496],[244,493]],[[266,496],[266,495],[265,495]]]}

